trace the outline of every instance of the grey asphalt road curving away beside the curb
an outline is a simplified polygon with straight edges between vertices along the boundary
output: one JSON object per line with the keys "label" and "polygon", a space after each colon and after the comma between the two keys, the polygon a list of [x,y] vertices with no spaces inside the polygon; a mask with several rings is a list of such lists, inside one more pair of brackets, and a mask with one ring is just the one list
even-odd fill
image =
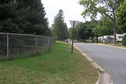
{"label": "grey asphalt road curving away beside the curb", "polygon": [[75,45],[104,67],[114,84],[126,84],[126,50],[96,44]]}

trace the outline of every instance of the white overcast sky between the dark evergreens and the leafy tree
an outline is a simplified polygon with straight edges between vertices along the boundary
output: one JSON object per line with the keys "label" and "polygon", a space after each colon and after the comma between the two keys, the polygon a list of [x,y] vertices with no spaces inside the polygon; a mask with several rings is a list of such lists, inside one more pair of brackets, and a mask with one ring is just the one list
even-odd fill
{"label": "white overcast sky between the dark evergreens and the leafy tree", "polygon": [[81,16],[84,7],[79,5],[79,0],[41,0],[45,8],[46,16],[49,21],[49,26],[53,24],[54,17],[58,14],[59,10],[64,11],[64,20],[68,28],[71,27],[69,20],[76,20],[84,22],[85,19]]}

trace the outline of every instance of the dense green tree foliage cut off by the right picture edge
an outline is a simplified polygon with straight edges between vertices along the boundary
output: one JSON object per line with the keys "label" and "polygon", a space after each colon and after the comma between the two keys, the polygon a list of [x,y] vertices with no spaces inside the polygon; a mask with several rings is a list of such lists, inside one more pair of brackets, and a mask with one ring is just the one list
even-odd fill
{"label": "dense green tree foliage cut off by the right picture edge", "polygon": [[126,1],[121,5],[117,13],[118,27],[122,33],[126,32]]}

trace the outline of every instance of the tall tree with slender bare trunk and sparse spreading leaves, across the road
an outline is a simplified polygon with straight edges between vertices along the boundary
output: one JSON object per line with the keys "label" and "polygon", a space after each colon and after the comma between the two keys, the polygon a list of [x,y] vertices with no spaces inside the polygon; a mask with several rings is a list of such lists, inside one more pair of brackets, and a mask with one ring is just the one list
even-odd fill
{"label": "tall tree with slender bare trunk and sparse spreading leaves, across the road", "polygon": [[111,19],[114,28],[114,43],[116,44],[116,14],[123,0],[80,0],[80,5],[85,7],[82,15],[96,18],[97,13],[105,15]]}

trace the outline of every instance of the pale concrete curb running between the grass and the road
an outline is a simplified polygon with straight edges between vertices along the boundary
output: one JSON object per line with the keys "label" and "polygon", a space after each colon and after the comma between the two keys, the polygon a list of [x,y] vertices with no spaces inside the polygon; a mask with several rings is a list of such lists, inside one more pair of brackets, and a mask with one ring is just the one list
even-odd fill
{"label": "pale concrete curb running between the grass and the road", "polygon": [[81,51],[78,47],[76,47],[75,45],[74,47],[79,50],[82,55],[91,62],[93,67],[98,70],[99,78],[96,84],[113,84],[113,81],[111,80],[111,75],[105,69],[103,69],[98,63],[96,63],[90,56]]}

